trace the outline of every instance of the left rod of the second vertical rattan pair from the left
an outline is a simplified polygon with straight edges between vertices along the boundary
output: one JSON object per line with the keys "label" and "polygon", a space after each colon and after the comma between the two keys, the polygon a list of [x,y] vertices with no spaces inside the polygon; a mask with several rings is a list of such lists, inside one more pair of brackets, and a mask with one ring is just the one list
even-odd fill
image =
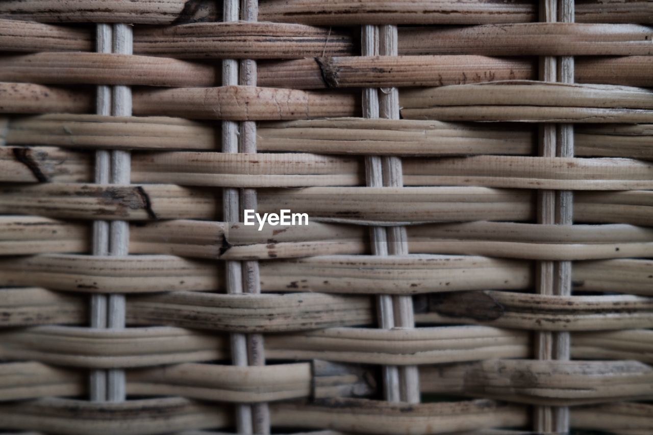
{"label": "left rod of the second vertical rattan pair from the left", "polygon": [[[223,3],[223,21],[238,21],[240,5],[238,0],[225,0]],[[225,59],[222,61],[223,86],[238,86],[238,61]],[[222,152],[238,152],[238,123],[235,121],[222,121]],[[240,195],[238,189],[225,187],[223,189],[223,212],[227,222],[240,220]],[[227,261],[227,293],[235,295],[243,293],[243,275],[240,261]],[[231,360],[234,366],[247,366],[247,339],[245,334],[231,334]],[[236,405],[236,429],[240,434],[253,433],[251,406],[246,404]]]}

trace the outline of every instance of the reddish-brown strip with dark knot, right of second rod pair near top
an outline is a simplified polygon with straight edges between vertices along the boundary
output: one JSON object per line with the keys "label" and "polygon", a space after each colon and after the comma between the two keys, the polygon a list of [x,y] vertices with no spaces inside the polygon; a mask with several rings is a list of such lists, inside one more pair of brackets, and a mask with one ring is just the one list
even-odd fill
{"label": "reddish-brown strip with dark knot, right of second rod pair near top", "polygon": [[[575,82],[653,86],[653,56],[579,57]],[[449,86],[533,80],[534,59],[485,56],[316,57],[259,63],[259,86],[295,89]]]}

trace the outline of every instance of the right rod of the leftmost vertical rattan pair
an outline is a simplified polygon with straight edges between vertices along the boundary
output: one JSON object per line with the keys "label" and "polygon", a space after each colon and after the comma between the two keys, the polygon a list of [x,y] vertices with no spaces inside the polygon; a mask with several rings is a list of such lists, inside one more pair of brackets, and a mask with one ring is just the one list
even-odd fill
{"label": "right rod of the leftmost vertical rattan pair", "polygon": [[[128,24],[114,24],[114,53],[133,54],[133,27]],[[112,116],[131,116],[131,88],[114,86],[112,92]],[[129,151],[113,150],[111,152],[112,184],[131,183],[131,154]],[[129,223],[112,221],[109,229],[109,255],[129,254]],[[125,295],[110,295],[108,298],[107,327],[123,329],[125,327]],[[123,402],[127,398],[125,370],[111,369],[107,374],[106,398],[110,402]]]}

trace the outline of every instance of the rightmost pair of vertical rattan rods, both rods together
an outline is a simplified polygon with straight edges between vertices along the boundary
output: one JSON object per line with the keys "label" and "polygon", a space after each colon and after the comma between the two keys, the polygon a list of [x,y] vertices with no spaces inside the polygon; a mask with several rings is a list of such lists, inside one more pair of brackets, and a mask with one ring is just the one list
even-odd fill
{"label": "rightmost pair of vertical rattan rods, both rods together", "polygon": [[[540,21],[573,21],[573,0],[546,0],[541,3]],[[540,61],[540,80],[547,82],[573,82],[573,58],[543,57]],[[571,76],[569,73],[571,72]],[[545,124],[541,126],[539,155],[543,157],[571,157],[573,155],[573,127],[571,125]],[[539,191],[538,222],[544,224],[571,224],[571,192]],[[543,295],[571,294],[571,262],[538,261],[537,293]],[[569,334],[537,332],[535,334],[537,359],[569,359]],[[538,432],[565,433],[569,430],[569,408],[537,406],[534,428]]]}

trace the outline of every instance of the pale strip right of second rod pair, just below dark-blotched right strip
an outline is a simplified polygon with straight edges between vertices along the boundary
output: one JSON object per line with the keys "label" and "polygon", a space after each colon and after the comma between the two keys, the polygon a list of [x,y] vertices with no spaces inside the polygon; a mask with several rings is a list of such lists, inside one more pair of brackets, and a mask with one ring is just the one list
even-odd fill
{"label": "pale strip right of second rod pair, just below dark-blotched right strip", "polygon": [[[325,358],[360,364],[441,364],[486,358],[527,358],[528,330],[446,326],[411,330],[324,329],[266,335],[266,355],[279,359]],[[653,331],[571,332],[575,359],[653,362]]]}

